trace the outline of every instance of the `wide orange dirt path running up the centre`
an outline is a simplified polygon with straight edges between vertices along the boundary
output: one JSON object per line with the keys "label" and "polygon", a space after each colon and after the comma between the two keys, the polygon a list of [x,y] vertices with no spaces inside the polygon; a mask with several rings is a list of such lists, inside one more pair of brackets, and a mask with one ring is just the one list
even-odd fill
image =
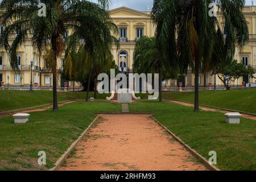
{"label": "wide orange dirt path running up the centre", "polygon": [[59,170],[207,170],[150,115],[102,114]]}

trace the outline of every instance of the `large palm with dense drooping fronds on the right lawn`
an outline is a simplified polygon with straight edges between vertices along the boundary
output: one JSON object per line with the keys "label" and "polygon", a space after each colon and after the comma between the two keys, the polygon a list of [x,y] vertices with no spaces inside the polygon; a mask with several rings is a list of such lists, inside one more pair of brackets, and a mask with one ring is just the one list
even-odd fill
{"label": "large palm with dense drooping fronds on the right lawn", "polygon": [[[210,3],[222,12],[225,36],[217,17],[209,15]],[[181,72],[188,67],[195,72],[195,111],[199,111],[200,69],[210,71],[212,65],[232,60],[236,45],[242,49],[248,40],[244,5],[245,0],[154,0],[151,16],[160,53]]]}

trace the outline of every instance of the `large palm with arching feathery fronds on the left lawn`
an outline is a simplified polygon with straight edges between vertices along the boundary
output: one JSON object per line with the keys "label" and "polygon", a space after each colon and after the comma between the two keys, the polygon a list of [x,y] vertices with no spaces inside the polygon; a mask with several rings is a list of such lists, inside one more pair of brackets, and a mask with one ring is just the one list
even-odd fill
{"label": "large palm with arching feathery fronds on the left lawn", "polygon": [[[46,17],[39,17],[39,2],[46,5]],[[64,51],[63,36],[72,30],[86,42],[86,50],[92,54],[100,45],[109,45],[108,28],[113,26],[108,11],[110,0],[3,0],[0,9],[4,11],[1,21],[5,31],[0,37],[0,48],[5,48],[10,57],[11,67],[18,70],[16,58],[19,47],[31,36],[34,48],[44,53],[47,65],[53,74],[53,111],[57,106],[57,57]],[[9,44],[9,37],[17,31],[14,41]],[[98,38],[103,35],[102,38]],[[106,38],[106,39],[105,39]]]}

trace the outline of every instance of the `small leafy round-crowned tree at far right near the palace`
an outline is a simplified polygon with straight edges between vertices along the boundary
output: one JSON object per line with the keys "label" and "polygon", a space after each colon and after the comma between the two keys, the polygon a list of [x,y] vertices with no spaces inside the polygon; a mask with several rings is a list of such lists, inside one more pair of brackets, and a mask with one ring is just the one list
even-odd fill
{"label": "small leafy round-crowned tree at far right near the palace", "polygon": [[218,66],[214,69],[214,73],[217,74],[226,89],[229,90],[230,81],[238,80],[243,76],[254,77],[255,71],[250,65],[246,66],[243,63],[238,63],[237,60],[233,60],[230,64]]}

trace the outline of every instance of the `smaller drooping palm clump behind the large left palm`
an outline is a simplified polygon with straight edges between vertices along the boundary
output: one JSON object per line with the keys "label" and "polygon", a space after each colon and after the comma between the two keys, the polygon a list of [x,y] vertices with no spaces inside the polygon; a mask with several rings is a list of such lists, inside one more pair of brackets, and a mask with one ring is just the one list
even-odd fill
{"label": "smaller drooping palm clump behind the large left palm", "polygon": [[[102,72],[108,72],[112,66],[113,55],[110,47],[113,43],[119,47],[117,38],[110,32],[112,30],[114,34],[117,33],[115,24],[106,22],[104,25],[105,27],[94,30],[92,35],[88,36],[89,32],[86,33],[86,31],[77,32],[70,36],[67,41],[64,75],[69,78],[76,77],[76,73],[88,75],[85,101],[89,101],[90,81],[92,77],[94,78],[94,98],[96,98],[97,76]],[[81,38],[82,40],[86,40],[85,44],[80,43]],[[88,41],[92,39],[97,40],[93,42]],[[88,44],[90,44],[90,47],[88,47]],[[77,48],[79,48],[78,51]]]}

